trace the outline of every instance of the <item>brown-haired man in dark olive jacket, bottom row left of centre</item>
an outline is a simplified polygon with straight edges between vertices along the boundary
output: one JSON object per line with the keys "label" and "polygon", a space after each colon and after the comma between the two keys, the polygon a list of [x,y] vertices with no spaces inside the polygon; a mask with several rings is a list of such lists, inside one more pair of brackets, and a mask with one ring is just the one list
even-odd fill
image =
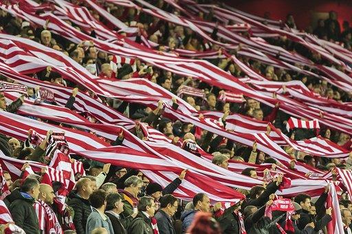
{"label": "brown-haired man in dark olive jacket, bottom row left of centre", "polygon": [[138,214],[129,226],[129,234],[153,234],[152,218],[155,213],[154,198],[140,198],[137,208]]}

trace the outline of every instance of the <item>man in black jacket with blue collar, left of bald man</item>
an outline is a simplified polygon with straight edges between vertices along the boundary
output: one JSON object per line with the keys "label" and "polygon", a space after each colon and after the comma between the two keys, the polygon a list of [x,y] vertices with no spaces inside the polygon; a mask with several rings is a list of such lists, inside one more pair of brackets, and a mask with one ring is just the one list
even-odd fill
{"label": "man in black jacket with blue collar, left of bald man", "polygon": [[26,178],[21,191],[10,204],[10,213],[14,223],[28,234],[39,234],[39,222],[36,218],[33,203],[39,196],[39,182],[34,178]]}

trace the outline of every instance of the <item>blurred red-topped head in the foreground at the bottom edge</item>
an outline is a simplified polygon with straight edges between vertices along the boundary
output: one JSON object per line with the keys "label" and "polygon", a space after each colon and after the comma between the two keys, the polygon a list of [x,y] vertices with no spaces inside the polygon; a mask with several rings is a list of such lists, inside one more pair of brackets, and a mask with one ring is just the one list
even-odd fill
{"label": "blurred red-topped head in the foreground at the bottom edge", "polygon": [[211,213],[197,212],[195,214],[195,219],[188,228],[187,233],[190,234],[221,234],[221,227],[217,220],[212,218]]}

